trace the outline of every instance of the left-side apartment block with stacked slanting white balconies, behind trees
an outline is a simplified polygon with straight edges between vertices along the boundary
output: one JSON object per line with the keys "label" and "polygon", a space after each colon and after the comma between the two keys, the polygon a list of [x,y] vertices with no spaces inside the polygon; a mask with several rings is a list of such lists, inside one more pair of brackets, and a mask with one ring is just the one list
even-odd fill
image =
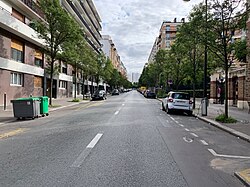
{"label": "left-side apartment block with stacked slanting white balconies, behind trees", "polygon": [[[84,32],[85,39],[94,52],[99,54],[101,52],[101,18],[95,8],[92,0],[60,0],[62,6],[67,12],[76,20]],[[73,72],[75,73],[75,72]],[[76,85],[72,85],[72,93],[77,95],[83,95],[86,92],[93,92],[96,89],[97,83],[94,82],[93,77],[89,76],[86,80],[83,80],[81,70],[77,72]],[[99,86],[106,85],[100,83]]]}

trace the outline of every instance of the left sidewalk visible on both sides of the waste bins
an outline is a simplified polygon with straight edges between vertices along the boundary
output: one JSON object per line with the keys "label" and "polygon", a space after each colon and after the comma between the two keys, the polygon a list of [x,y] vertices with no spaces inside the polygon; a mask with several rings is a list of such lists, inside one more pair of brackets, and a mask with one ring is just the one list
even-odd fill
{"label": "left sidewalk visible on both sides of the waste bins", "polygon": [[[49,107],[49,113],[64,107],[78,105],[79,103],[89,102],[89,100],[81,100],[80,102],[71,102],[72,100],[73,98],[53,99],[52,104],[53,106],[56,107]],[[0,125],[8,122],[13,122],[15,120],[16,118],[14,117],[13,107],[11,103],[6,107],[6,110],[4,110],[3,106],[0,106]]]}

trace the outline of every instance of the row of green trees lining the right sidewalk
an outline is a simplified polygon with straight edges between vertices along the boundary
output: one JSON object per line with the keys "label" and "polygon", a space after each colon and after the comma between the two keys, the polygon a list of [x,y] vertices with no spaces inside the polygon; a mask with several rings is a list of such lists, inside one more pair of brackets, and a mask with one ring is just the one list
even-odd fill
{"label": "row of green trees lining the right sidewalk", "polygon": [[[154,63],[146,66],[139,80],[148,87],[163,86],[178,90],[180,85],[193,88],[202,85],[204,54],[208,54],[208,74],[221,68],[225,72],[225,115],[228,117],[228,69],[235,60],[246,61],[246,39],[234,41],[235,31],[246,29],[248,7],[243,0],[208,0],[195,6],[188,22],[178,28],[176,40],[170,50],[160,49]],[[207,48],[205,48],[207,46]],[[199,86],[199,88],[201,88]]]}

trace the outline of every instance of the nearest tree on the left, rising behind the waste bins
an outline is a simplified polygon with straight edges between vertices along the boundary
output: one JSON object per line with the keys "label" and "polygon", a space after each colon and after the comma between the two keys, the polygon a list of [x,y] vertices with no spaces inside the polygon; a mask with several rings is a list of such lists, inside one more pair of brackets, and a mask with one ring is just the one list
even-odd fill
{"label": "nearest tree on the left, rising behind the waste bins", "polygon": [[76,37],[76,23],[62,8],[59,0],[40,0],[39,8],[44,13],[45,21],[34,21],[35,30],[39,38],[44,40],[47,65],[50,69],[50,101],[52,105],[52,87],[55,62],[61,53],[63,43],[72,41]]}

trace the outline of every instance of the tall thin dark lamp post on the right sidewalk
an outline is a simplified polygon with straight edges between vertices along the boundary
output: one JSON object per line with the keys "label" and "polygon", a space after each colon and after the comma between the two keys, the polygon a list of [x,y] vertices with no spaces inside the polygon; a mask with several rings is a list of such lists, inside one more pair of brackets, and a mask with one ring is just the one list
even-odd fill
{"label": "tall thin dark lamp post on the right sidewalk", "polygon": [[[190,0],[183,0],[188,2]],[[205,0],[205,54],[204,54],[204,81],[203,81],[203,103],[202,103],[202,115],[207,116],[207,105],[208,105],[208,98],[207,98],[207,0]]]}

